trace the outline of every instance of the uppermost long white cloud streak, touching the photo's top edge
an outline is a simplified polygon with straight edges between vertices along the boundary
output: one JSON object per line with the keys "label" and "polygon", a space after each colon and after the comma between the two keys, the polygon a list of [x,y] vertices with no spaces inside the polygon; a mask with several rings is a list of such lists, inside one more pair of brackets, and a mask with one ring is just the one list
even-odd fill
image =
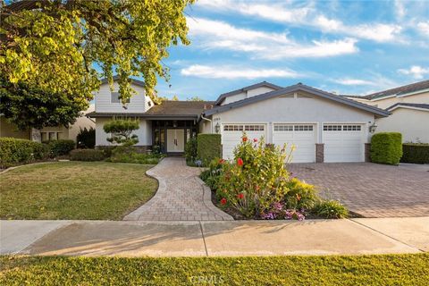
{"label": "uppermost long white cloud streak, touching the photo's top edge", "polygon": [[[348,25],[340,20],[330,19],[313,7],[313,3],[303,7],[290,7],[285,4],[264,4],[230,0],[199,0],[198,5],[211,10],[233,11],[256,16],[268,21],[277,21],[296,26],[311,27],[325,33],[365,38],[377,42],[397,40],[402,28],[397,24],[370,23]],[[400,10],[405,13],[405,10]]]}

